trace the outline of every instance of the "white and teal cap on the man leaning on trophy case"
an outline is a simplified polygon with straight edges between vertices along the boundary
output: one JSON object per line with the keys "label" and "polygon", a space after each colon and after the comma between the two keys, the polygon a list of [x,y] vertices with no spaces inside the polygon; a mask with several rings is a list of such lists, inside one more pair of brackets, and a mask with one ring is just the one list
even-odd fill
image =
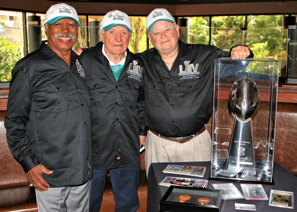
{"label": "white and teal cap on the man leaning on trophy case", "polygon": [[175,23],[175,20],[172,17],[172,15],[170,14],[170,12],[168,12],[164,8],[157,8],[157,9],[154,9],[146,17],[146,28],[148,29],[148,31],[151,30],[153,24],[158,20],[165,20],[165,21],[169,21],[171,23],[173,23],[173,22]]}

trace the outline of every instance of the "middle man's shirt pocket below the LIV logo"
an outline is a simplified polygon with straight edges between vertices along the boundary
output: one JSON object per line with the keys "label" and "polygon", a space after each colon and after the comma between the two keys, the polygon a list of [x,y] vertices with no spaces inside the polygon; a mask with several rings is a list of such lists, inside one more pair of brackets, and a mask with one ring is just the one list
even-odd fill
{"label": "middle man's shirt pocket below the LIV logo", "polygon": [[135,110],[139,91],[143,88],[138,80],[126,78],[125,102],[130,109]]}

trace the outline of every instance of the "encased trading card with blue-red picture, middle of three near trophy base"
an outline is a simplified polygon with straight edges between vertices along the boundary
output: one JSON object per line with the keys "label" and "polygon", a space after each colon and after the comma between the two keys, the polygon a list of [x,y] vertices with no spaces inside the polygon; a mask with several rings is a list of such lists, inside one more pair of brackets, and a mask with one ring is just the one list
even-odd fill
{"label": "encased trading card with blue-red picture, middle of three near trophy base", "polygon": [[268,200],[261,184],[240,184],[245,199]]}

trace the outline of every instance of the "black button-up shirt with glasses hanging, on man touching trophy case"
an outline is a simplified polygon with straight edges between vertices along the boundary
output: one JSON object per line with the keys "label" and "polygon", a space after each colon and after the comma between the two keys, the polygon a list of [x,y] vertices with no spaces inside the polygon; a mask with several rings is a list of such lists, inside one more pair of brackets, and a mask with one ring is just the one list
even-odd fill
{"label": "black button-up shirt with glasses hanging, on man touching trophy case", "polygon": [[[171,138],[198,132],[213,111],[214,61],[219,57],[230,57],[230,53],[211,45],[179,41],[179,53],[171,70],[155,48],[140,53],[140,56],[147,70],[144,76],[145,124]],[[170,82],[173,86],[163,83],[160,75],[179,86],[174,88],[173,82]]]}

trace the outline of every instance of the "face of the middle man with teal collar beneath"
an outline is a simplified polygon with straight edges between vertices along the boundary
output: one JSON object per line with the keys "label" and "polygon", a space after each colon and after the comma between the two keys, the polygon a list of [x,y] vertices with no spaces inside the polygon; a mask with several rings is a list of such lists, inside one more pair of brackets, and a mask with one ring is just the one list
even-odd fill
{"label": "face of the middle man with teal collar beneath", "polygon": [[131,38],[130,31],[122,25],[116,25],[104,33],[99,34],[105,45],[105,53],[107,56],[125,53]]}

